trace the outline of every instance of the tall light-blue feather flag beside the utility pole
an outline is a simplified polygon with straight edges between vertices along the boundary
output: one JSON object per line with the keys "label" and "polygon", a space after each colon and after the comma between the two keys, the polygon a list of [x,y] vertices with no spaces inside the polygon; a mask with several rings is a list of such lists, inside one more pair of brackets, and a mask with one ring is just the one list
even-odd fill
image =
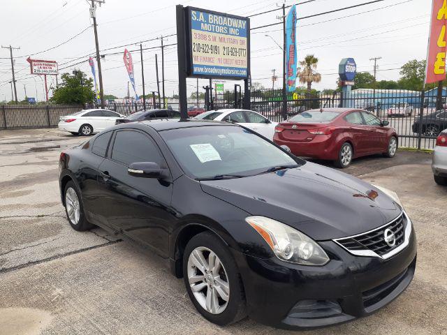
{"label": "tall light-blue feather flag beside the utility pole", "polygon": [[286,85],[288,92],[295,91],[296,62],[296,9],[293,5],[286,17]]}

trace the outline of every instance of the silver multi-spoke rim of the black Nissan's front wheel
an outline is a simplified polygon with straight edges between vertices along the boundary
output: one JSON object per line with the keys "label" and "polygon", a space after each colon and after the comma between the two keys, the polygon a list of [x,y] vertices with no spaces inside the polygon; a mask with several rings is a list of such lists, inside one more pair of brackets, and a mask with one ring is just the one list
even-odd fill
{"label": "silver multi-spoke rim of the black Nissan's front wheel", "polygon": [[188,280],[193,296],[208,313],[225,311],[230,299],[228,276],[217,255],[199,246],[188,258]]}

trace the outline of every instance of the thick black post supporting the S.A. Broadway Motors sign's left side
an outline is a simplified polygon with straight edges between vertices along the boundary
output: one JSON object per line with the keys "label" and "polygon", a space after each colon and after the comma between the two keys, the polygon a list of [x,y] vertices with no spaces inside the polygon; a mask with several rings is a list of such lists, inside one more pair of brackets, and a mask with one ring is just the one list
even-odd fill
{"label": "thick black post supporting the S.A. Broadway Motors sign's left side", "polygon": [[188,106],[186,96],[186,50],[185,50],[185,34],[184,30],[184,10],[182,5],[175,8],[177,16],[177,59],[179,68],[179,111],[182,119],[188,119]]}

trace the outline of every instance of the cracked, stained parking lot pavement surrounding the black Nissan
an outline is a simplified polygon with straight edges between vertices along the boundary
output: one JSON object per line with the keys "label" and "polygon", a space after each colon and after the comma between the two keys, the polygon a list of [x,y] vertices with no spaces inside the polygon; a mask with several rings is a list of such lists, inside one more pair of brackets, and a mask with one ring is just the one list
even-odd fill
{"label": "cracked, stained parking lot pavement surrounding the black Nissan", "polygon": [[[288,334],[249,319],[213,325],[155,255],[100,228],[72,230],[57,161],[83,140],[56,129],[0,132],[0,335]],[[416,275],[374,315],[302,333],[447,334],[447,188],[434,184],[430,162],[398,151],[344,170],[400,196],[418,237]]]}

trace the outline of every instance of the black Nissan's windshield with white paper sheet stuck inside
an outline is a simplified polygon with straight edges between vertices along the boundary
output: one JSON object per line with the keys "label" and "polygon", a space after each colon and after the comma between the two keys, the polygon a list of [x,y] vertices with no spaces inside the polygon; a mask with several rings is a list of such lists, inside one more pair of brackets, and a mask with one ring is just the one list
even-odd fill
{"label": "black Nissan's windshield with white paper sheet stuck inside", "polygon": [[161,131],[182,169],[196,179],[247,177],[305,163],[239,126],[199,126]]}

